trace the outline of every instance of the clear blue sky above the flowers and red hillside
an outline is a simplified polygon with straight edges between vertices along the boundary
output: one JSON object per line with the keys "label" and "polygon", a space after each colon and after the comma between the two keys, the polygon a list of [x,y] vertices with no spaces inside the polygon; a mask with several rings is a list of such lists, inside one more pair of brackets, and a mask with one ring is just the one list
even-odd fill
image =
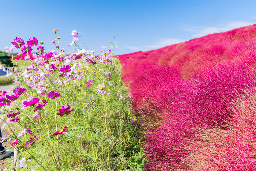
{"label": "clear blue sky above the flowers and red hillside", "polygon": [[[256,23],[256,1],[189,0],[2,0],[0,6],[0,50],[20,37],[36,37],[46,51],[55,49],[54,29],[67,53],[76,30],[89,36],[79,38],[96,54],[111,49],[114,54],[158,49],[207,34],[225,32]],[[79,34],[81,35],[81,34]],[[84,45],[84,43],[86,43]],[[14,50],[14,52],[18,52]]]}

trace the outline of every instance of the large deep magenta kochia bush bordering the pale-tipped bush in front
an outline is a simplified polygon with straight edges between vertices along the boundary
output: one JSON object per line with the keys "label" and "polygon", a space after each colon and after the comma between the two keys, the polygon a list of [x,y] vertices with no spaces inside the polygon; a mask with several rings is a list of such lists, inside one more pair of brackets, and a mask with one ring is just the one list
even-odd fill
{"label": "large deep magenta kochia bush bordering the pale-tipped bush in front", "polygon": [[229,103],[237,93],[243,94],[246,86],[256,86],[254,80],[255,74],[247,67],[225,63],[184,82],[170,104],[169,118],[144,138],[147,170],[187,168],[182,161],[193,152],[189,142],[198,138],[194,128],[206,129],[229,121],[234,114],[228,109]]}

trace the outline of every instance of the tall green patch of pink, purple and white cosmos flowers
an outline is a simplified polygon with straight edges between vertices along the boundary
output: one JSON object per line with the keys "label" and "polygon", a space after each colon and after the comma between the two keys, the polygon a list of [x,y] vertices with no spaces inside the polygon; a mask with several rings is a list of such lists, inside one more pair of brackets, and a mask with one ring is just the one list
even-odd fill
{"label": "tall green patch of pink, purple and white cosmos flowers", "polygon": [[27,43],[16,37],[5,48],[23,55],[8,75],[13,94],[0,91],[7,124],[1,142],[18,151],[9,170],[142,170],[137,121],[113,50],[95,56],[79,47],[84,35],[74,30],[69,46],[78,50],[65,54],[54,33],[56,52],[45,52],[35,37]]}

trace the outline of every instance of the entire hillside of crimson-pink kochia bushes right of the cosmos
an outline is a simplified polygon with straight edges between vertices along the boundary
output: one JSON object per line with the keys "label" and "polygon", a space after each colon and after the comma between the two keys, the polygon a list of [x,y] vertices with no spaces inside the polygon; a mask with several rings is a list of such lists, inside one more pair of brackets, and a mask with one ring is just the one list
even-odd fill
{"label": "entire hillside of crimson-pink kochia bushes right of the cosmos", "polygon": [[118,56],[148,171],[256,170],[256,24]]}

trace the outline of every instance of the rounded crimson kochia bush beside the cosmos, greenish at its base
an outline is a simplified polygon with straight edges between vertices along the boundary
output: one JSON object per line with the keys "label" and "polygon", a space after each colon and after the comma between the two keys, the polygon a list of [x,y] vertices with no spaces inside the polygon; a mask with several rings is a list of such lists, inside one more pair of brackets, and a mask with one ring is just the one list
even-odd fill
{"label": "rounded crimson kochia bush beside the cosmos, greenish at its base", "polygon": [[[138,112],[137,116],[147,119],[152,115],[148,110],[155,109],[158,113],[161,113],[160,117],[171,110],[172,101],[178,95],[178,88],[183,82],[176,68],[147,62],[140,64],[131,74],[134,77],[131,79],[129,86],[133,109]],[[143,115],[140,115],[142,111]]]}

